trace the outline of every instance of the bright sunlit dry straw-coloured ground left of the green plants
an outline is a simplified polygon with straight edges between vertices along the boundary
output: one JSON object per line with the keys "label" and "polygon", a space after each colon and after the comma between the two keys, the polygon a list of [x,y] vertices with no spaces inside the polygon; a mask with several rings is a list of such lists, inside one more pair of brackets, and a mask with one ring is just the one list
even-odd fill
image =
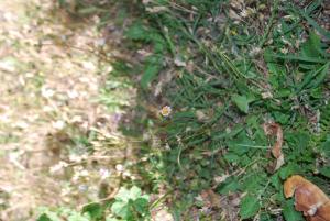
{"label": "bright sunlit dry straw-coloured ground left of the green plants", "polygon": [[90,53],[102,41],[96,25],[52,11],[46,0],[0,1],[0,220],[97,197],[94,187],[77,195],[86,191],[77,183],[84,167],[73,169],[76,177],[59,170],[64,159],[88,153],[86,136],[98,120],[118,120],[97,102],[111,66]]}

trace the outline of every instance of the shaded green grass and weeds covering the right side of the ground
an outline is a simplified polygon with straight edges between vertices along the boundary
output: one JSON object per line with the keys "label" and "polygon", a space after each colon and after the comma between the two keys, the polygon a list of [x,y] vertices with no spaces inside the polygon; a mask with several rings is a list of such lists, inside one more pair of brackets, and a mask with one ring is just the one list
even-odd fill
{"label": "shaded green grass and weeds covering the right side of the ground", "polygon": [[[174,220],[304,220],[283,194],[292,175],[330,194],[326,2],[134,2],[141,13],[128,26],[118,23],[125,47],[144,52],[133,68],[121,69],[142,73],[132,108],[138,126],[124,132],[157,137],[141,144],[147,161],[134,165],[142,177],[134,184],[156,196],[165,191],[156,202],[168,206]],[[128,15],[122,7],[119,18]],[[173,109],[168,117],[150,114],[150,106],[165,104]],[[283,129],[278,169],[270,153],[275,141],[263,130],[270,121]],[[200,197],[210,189],[230,211]]]}

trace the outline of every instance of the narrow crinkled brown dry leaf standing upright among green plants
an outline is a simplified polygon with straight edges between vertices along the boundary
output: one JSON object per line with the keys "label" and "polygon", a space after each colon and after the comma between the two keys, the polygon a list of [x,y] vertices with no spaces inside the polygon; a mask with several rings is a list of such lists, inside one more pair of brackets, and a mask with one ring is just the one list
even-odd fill
{"label": "narrow crinkled brown dry leaf standing upright among green plants", "polygon": [[264,123],[263,129],[266,135],[276,136],[276,142],[272,147],[272,154],[276,158],[275,172],[284,164],[283,146],[283,130],[278,123]]}

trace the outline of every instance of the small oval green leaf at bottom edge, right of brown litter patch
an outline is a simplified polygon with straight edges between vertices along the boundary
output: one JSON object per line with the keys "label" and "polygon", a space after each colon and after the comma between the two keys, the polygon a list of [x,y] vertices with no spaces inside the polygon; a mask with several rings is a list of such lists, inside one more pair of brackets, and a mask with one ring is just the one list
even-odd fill
{"label": "small oval green leaf at bottom edge, right of brown litter patch", "polygon": [[260,209],[260,201],[256,197],[248,195],[241,201],[240,216],[242,219],[252,218]]}

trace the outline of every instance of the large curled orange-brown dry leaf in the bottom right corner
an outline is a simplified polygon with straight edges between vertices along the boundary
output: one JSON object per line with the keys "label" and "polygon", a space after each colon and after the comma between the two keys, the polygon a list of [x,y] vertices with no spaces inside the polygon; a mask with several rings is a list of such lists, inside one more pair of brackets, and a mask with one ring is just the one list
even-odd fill
{"label": "large curled orange-brown dry leaf in the bottom right corner", "polygon": [[302,211],[307,220],[330,221],[330,199],[315,184],[295,175],[284,183],[286,198],[295,195],[296,210]]}

